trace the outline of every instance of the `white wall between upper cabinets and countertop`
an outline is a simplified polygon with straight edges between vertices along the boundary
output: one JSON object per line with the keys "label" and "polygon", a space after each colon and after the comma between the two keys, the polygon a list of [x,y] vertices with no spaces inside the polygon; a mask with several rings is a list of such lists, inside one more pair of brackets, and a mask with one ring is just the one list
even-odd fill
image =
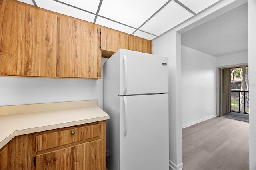
{"label": "white wall between upper cabinets and countertop", "polygon": [[103,109],[103,73],[98,80],[0,77],[1,106],[94,99]]}

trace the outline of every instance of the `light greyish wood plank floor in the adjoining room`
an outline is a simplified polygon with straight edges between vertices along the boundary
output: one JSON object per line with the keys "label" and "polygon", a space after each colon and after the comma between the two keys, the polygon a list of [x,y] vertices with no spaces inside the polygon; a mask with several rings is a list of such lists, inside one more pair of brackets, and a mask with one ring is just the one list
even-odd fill
{"label": "light greyish wood plank floor in the adjoining room", "polygon": [[183,170],[248,170],[249,123],[214,117],[182,129]]}

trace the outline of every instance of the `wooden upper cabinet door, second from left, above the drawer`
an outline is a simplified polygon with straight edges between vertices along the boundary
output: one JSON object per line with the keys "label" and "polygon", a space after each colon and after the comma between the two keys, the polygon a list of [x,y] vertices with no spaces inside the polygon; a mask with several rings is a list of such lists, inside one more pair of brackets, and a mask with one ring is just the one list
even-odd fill
{"label": "wooden upper cabinet door, second from left, above the drawer", "polygon": [[59,77],[98,78],[98,49],[94,24],[59,17]]}

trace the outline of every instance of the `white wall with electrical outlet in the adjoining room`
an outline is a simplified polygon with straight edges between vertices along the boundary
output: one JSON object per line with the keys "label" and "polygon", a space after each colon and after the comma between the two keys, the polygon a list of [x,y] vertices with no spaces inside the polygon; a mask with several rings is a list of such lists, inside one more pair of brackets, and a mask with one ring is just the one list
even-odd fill
{"label": "white wall with electrical outlet in the adjoining room", "polygon": [[181,64],[181,115],[185,128],[216,117],[216,57],[182,45]]}

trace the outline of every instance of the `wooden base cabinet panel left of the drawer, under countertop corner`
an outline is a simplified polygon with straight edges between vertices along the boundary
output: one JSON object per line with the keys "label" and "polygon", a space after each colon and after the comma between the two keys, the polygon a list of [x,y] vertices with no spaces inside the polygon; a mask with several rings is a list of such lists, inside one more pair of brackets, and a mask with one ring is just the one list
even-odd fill
{"label": "wooden base cabinet panel left of the drawer, under countertop corner", "polygon": [[35,134],[16,136],[10,141],[10,169],[35,170]]}

